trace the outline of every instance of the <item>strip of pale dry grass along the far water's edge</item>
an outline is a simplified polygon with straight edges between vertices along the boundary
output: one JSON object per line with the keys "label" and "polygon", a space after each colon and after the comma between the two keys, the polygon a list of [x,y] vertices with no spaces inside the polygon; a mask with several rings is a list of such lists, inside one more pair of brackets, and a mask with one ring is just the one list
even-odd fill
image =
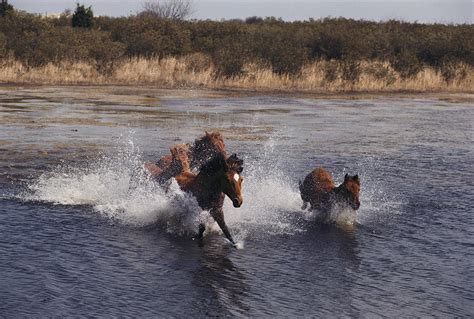
{"label": "strip of pale dry grass along the far water's edge", "polygon": [[[450,72],[446,74],[446,72]],[[113,71],[99,72],[92,62],[48,63],[27,67],[15,59],[0,64],[0,83],[18,84],[119,84],[160,88],[233,88],[245,90],[313,92],[470,92],[474,70],[453,65],[444,73],[425,66],[412,77],[403,77],[388,62],[361,61],[343,64],[316,61],[305,64],[297,75],[277,74],[265,64],[247,63],[238,76],[219,76],[206,56],[180,58],[131,58],[115,63]]]}

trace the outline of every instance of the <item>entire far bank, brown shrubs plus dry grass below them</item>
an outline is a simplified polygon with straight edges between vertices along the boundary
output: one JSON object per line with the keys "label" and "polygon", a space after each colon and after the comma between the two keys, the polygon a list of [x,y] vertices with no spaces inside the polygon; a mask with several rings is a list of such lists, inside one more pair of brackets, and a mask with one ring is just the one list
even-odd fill
{"label": "entire far bank, brown shrubs plus dry grass below them", "polygon": [[[79,7],[78,7],[79,8]],[[474,26],[149,14],[0,15],[0,82],[312,92],[471,92]]]}

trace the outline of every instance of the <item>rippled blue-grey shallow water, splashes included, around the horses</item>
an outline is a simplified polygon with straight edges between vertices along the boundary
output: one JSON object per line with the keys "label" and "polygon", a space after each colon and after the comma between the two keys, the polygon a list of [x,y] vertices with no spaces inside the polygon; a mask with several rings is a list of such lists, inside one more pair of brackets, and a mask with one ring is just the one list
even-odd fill
{"label": "rippled blue-grey shallow water, splashes included, around the horses", "polygon": [[[474,315],[474,109],[131,88],[0,89],[0,316]],[[229,246],[141,169],[220,130],[245,159]],[[361,177],[351,229],[301,210]]]}

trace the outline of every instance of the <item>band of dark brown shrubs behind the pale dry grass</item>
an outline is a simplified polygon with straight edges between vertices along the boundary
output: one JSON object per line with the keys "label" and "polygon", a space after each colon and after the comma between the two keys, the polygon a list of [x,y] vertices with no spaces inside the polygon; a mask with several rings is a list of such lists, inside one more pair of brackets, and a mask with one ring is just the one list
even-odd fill
{"label": "band of dark brown shrubs behind the pale dry grass", "polygon": [[186,21],[146,12],[114,18],[94,17],[91,7],[81,5],[74,14],[53,19],[10,7],[0,10],[0,57],[29,67],[80,60],[107,73],[125,58],[194,55],[198,64],[212,63],[216,76],[239,76],[246,63],[257,63],[297,77],[305,64],[326,60],[328,78],[333,63],[352,80],[360,61],[388,61],[402,78],[430,66],[448,81],[459,63],[474,65],[474,27],[468,24],[274,17]]}

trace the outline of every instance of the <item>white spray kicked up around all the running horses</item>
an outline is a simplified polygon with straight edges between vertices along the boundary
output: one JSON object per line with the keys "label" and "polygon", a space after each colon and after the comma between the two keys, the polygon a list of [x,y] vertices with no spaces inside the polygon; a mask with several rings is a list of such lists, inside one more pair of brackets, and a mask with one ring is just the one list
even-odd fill
{"label": "white spray kicked up around all the running horses", "polygon": [[[275,143],[265,144],[262,158],[246,160],[244,171],[244,205],[234,208],[226,198],[226,222],[241,246],[249,232],[294,233],[304,230],[295,219],[314,222],[315,212],[301,211],[301,198],[294,181],[278,168]],[[144,170],[140,150],[133,138],[127,139],[113,154],[100,155],[81,166],[61,165],[44,173],[22,198],[63,205],[90,205],[102,216],[132,226],[164,224],[174,234],[194,234],[200,222],[218,231],[207,212],[203,212],[192,195],[182,192],[176,181],[164,189]],[[375,162],[357,168],[363,180],[361,220],[368,218],[387,201],[383,188],[370,175]],[[268,167],[272,167],[271,170]],[[375,185],[371,187],[370,185]],[[355,214],[339,210],[331,221],[353,223]],[[361,222],[360,220],[358,222]],[[262,230],[264,230],[262,232]]]}

